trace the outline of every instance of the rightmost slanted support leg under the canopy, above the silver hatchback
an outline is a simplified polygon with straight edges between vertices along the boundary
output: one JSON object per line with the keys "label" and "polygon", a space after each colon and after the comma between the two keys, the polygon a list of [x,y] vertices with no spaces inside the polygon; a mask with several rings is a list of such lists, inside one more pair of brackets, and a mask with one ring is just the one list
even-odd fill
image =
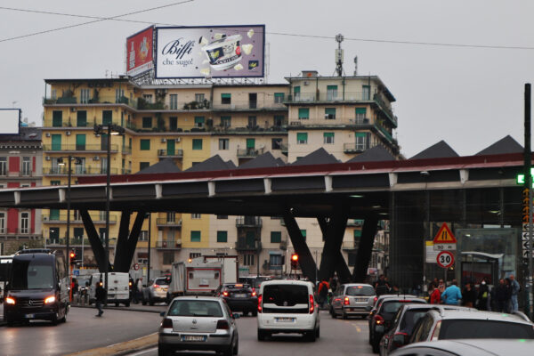
{"label": "rightmost slanted support leg under the canopy, above the silver hatchback", "polygon": [[354,282],[365,282],[369,261],[373,253],[377,226],[377,214],[369,214],[365,217],[361,229],[360,247],[358,247],[358,253],[356,254],[356,265],[352,272],[352,280]]}

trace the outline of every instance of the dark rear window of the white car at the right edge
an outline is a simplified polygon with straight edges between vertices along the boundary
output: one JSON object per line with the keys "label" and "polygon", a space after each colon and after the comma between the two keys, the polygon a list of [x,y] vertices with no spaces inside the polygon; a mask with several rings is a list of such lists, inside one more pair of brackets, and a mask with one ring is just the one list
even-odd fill
{"label": "dark rear window of the white car at the right edge", "polygon": [[532,339],[534,329],[528,324],[496,320],[442,320],[440,339]]}

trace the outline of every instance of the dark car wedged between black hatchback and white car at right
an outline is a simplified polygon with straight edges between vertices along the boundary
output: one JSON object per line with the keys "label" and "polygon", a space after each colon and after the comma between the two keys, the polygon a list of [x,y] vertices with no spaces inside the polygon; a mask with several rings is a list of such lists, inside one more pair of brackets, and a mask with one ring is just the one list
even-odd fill
{"label": "dark car wedged between black hatchback and white car at right", "polygon": [[470,308],[457,305],[404,304],[397,312],[392,327],[387,330],[382,340],[380,340],[380,355],[388,355],[393,350],[409,344],[409,338],[412,336],[417,321],[424,317],[426,312],[440,309],[470,310]]}

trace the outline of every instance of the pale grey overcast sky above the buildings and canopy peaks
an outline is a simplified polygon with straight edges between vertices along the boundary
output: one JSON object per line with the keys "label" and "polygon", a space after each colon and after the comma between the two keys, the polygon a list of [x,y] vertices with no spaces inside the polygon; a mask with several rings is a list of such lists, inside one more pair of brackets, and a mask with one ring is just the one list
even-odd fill
{"label": "pale grey overcast sky above the buildings and canopy peaks", "polygon": [[[524,85],[534,81],[531,0],[179,3],[2,0],[0,108],[20,108],[22,117],[41,125],[45,78],[124,74],[125,38],[150,24],[265,24],[269,83],[286,83],[284,77],[303,69],[333,75],[334,37],[343,34],[345,73],[352,75],[358,56],[358,74],[380,77],[395,96],[395,134],[406,158],[441,140],[461,156],[508,134],[524,143]],[[95,19],[28,11],[98,18],[139,13],[73,27]]]}

